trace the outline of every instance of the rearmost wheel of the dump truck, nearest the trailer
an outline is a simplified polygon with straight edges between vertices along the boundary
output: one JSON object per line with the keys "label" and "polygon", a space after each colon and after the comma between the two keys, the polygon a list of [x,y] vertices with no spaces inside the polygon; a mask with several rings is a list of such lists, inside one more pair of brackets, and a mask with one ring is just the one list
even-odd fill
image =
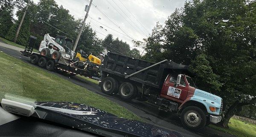
{"label": "rearmost wheel of the dump truck, nearest the trailer", "polygon": [[105,94],[116,94],[118,91],[118,82],[113,77],[106,77],[102,80],[100,88]]}

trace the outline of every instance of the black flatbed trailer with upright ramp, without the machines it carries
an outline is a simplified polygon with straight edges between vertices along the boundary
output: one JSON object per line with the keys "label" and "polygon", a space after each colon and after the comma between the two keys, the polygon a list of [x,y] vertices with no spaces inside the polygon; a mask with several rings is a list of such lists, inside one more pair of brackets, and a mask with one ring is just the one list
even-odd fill
{"label": "black flatbed trailer with upright ramp, without the machines it carries", "polygon": [[71,75],[79,74],[81,76],[90,77],[95,80],[100,80],[99,72],[98,72],[98,75],[92,75],[90,71],[88,71],[92,69],[93,67],[92,63],[87,64],[88,66],[86,69],[80,69],[74,66],[73,64],[81,61],[70,60],[69,63],[64,63],[65,61],[63,60],[62,57],[59,60],[56,60],[51,57],[41,55],[39,53],[35,53],[35,52],[32,53],[35,45],[35,40],[36,40],[36,37],[30,36],[29,41],[26,44],[25,50],[20,51],[23,56],[30,57],[30,63],[34,65],[38,65],[41,68],[46,68],[49,71],[60,70],[60,71],[68,72]]}

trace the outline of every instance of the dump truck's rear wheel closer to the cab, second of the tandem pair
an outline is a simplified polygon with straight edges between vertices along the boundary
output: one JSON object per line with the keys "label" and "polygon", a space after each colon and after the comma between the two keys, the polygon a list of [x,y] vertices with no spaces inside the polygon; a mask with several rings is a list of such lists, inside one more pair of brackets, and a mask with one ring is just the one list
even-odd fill
{"label": "dump truck's rear wheel closer to the cab, second of the tandem pair", "polygon": [[119,95],[124,100],[131,100],[136,97],[136,94],[136,87],[129,82],[122,83],[119,87]]}

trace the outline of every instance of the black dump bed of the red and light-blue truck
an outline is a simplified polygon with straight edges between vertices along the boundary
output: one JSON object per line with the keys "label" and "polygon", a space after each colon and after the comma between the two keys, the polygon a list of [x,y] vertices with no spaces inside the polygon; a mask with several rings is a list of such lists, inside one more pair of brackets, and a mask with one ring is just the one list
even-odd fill
{"label": "black dump bed of the red and light-blue truck", "polygon": [[[160,61],[162,60],[159,60],[159,62]],[[141,69],[154,64],[155,63],[149,61],[108,52],[104,58],[104,61],[102,62],[100,70],[125,78],[127,75],[133,74],[134,72],[140,71]],[[186,65],[165,61],[149,69],[141,71],[140,73],[134,74],[127,79],[152,86],[154,88],[161,88],[166,76],[172,72],[182,74],[190,73],[188,66]]]}

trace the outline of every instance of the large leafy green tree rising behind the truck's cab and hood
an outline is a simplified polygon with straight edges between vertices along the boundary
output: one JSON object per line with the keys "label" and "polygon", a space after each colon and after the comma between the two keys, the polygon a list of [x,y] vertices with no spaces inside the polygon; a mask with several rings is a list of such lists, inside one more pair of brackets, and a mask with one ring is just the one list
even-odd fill
{"label": "large leafy green tree rising behind the truck's cab and hood", "polygon": [[194,0],[145,40],[148,58],[190,65],[199,87],[224,101],[221,126],[256,103],[256,1]]}

